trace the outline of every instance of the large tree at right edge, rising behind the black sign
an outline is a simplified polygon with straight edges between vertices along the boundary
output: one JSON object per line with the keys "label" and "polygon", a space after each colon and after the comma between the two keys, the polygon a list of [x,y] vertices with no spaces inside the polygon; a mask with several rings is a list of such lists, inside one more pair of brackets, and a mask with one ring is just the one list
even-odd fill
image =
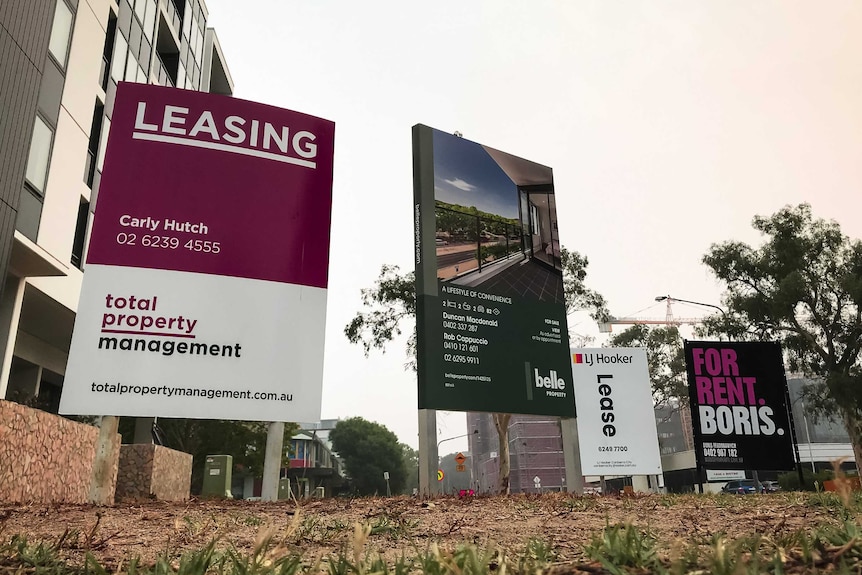
{"label": "large tree at right edge, rising behind the black sign", "polygon": [[755,216],[752,225],[766,237],[759,248],[728,241],[703,258],[727,289],[726,331],[780,340],[790,369],[814,380],[810,407],[841,415],[862,462],[862,243],[814,218],[808,204]]}

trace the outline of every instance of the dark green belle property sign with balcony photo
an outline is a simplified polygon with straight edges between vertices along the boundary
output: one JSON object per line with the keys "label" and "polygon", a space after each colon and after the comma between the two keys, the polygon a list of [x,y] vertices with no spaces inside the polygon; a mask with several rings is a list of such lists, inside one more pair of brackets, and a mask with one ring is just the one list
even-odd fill
{"label": "dark green belle property sign with balcony photo", "polygon": [[572,417],[551,168],[413,127],[419,408]]}

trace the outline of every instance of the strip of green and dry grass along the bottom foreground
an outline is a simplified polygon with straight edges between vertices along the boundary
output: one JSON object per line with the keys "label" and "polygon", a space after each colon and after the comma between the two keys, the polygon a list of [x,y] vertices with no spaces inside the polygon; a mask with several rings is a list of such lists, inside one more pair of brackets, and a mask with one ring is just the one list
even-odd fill
{"label": "strip of green and dry grass along the bottom foreground", "polygon": [[[15,535],[0,545],[0,573],[20,575],[504,575],[539,574],[561,567],[553,546],[528,539],[509,553],[493,546],[458,546],[445,550],[432,543],[387,561],[367,549],[371,526],[357,525],[351,545],[326,557],[308,558],[273,541],[259,538],[254,549],[218,550],[215,541],[179,557],[161,556],[151,565],[132,559],[120,565],[102,565],[87,552],[78,563],[61,557],[57,545],[32,543]],[[852,522],[840,528],[802,532],[779,541],[753,535],[728,541],[716,537],[711,545],[663,549],[648,529],[608,525],[584,549],[586,561],[569,563],[590,572],[629,573],[858,573],[862,570],[862,530]],[[598,569],[598,568],[601,569]]]}

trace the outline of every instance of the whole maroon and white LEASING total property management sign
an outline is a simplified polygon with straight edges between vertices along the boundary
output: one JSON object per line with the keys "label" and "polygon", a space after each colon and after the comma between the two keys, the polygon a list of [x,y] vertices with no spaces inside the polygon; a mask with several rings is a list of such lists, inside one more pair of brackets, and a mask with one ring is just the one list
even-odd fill
{"label": "whole maroon and white LEASING total property management sign", "polygon": [[319,419],[333,135],[120,84],[61,413]]}

